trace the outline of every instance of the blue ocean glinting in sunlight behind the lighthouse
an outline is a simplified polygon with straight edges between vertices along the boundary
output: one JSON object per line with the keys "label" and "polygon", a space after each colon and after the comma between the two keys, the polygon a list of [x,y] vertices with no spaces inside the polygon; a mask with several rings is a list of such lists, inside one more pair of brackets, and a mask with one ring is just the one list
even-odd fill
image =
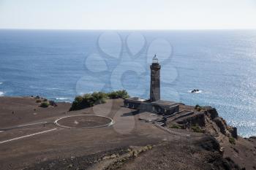
{"label": "blue ocean glinting in sunlight behind the lighthouse", "polygon": [[215,107],[239,135],[256,136],[252,30],[0,30],[0,96],[71,102],[82,93],[126,89],[148,98],[155,54],[162,99]]}

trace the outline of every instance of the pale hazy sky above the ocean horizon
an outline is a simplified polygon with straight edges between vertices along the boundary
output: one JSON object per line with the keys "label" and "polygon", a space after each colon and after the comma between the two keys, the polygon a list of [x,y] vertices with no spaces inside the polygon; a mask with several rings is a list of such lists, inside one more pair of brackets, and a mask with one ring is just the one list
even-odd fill
{"label": "pale hazy sky above the ocean horizon", "polygon": [[0,0],[0,28],[256,28],[256,0]]}

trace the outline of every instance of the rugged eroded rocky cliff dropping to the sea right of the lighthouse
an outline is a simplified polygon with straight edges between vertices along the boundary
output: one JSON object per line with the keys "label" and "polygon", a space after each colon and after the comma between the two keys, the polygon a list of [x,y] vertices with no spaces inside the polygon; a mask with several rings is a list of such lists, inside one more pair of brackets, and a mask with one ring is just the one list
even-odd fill
{"label": "rugged eroded rocky cliff dropping to the sea right of the lighthouse", "polygon": [[183,128],[184,131],[195,131],[213,137],[218,151],[223,158],[232,160],[241,169],[256,169],[256,137],[243,138],[238,136],[237,128],[227,125],[219,117],[217,109],[212,107],[190,107],[181,104],[183,109],[191,109],[195,113],[181,117],[169,125],[169,128]]}

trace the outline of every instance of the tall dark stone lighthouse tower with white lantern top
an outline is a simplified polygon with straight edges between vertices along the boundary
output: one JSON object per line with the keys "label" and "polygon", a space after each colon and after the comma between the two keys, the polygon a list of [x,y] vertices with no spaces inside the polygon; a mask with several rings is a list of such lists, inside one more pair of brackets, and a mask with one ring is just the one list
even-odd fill
{"label": "tall dark stone lighthouse tower with white lantern top", "polygon": [[160,69],[157,55],[154,55],[151,69],[151,82],[150,82],[150,101],[158,101],[160,99]]}

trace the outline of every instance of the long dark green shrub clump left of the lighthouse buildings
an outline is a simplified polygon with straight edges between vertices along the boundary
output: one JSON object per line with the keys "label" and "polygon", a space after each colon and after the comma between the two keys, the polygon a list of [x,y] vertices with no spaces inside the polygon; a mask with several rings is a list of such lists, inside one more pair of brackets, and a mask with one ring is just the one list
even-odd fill
{"label": "long dark green shrub clump left of the lighthouse buildings", "polygon": [[87,107],[93,107],[95,104],[104,104],[108,98],[128,98],[129,95],[126,90],[117,90],[110,93],[94,92],[87,93],[83,96],[76,96],[72,103],[71,110],[85,109]]}

